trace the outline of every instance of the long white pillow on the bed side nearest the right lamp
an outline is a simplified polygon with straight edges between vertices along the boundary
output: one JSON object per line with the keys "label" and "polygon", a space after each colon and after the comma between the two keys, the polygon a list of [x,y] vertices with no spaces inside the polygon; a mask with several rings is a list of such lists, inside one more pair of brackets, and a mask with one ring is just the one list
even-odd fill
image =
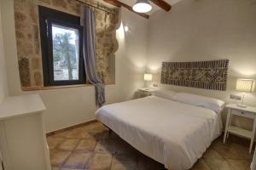
{"label": "long white pillow on the bed side nearest the right lamp", "polygon": [[224,101],[201,95],[177,93],[173,96],[173,99],[185,104],[205,107],[217,113],[220,113],[224,109]]}

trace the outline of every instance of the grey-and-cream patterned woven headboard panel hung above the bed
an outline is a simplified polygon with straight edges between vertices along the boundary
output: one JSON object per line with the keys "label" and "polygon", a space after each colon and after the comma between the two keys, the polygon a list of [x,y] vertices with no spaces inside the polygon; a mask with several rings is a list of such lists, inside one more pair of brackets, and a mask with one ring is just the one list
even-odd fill
{"label": "grey-and-cream patterned woven headboard panel hung above the bed", "polygon": [[225,91],[229,59],[163,62],[161,83]]}

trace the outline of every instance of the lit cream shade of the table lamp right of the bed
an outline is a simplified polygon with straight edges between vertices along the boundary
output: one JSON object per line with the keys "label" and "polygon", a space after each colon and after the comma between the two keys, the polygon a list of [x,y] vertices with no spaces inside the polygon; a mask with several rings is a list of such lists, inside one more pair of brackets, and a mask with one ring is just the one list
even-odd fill
{"label": "lit cream shade of the table lamp right of the bed", "polygon": [[253,92],[254,80],[253,79],[237,79],[236,90],[240,92]]}

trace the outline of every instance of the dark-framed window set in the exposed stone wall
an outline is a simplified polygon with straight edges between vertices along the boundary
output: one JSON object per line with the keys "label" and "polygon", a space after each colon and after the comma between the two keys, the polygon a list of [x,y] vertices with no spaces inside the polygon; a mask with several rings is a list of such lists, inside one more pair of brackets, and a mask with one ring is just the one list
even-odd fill
{"label": "dark-framed window set in the exposed stone wall", "polygon": [[44,86],[85,83],[80,18],[39,6]]}

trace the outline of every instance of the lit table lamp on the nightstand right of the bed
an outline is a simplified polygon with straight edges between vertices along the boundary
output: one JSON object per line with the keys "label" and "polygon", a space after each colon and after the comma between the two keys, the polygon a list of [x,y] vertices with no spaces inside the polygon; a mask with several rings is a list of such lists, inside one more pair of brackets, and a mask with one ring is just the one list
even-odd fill
{"label": "lit table lamp on the nightstand right of the bed", "polygon": [[254,90],[254,80],[253,79],[237,79],[236,81],[236,90],[240,92],[244,92],[242,95],[241,104],[237,104],[239,107],[247,107],[247,105],[244,104],[244,97],[245,93],[252,93]]}

